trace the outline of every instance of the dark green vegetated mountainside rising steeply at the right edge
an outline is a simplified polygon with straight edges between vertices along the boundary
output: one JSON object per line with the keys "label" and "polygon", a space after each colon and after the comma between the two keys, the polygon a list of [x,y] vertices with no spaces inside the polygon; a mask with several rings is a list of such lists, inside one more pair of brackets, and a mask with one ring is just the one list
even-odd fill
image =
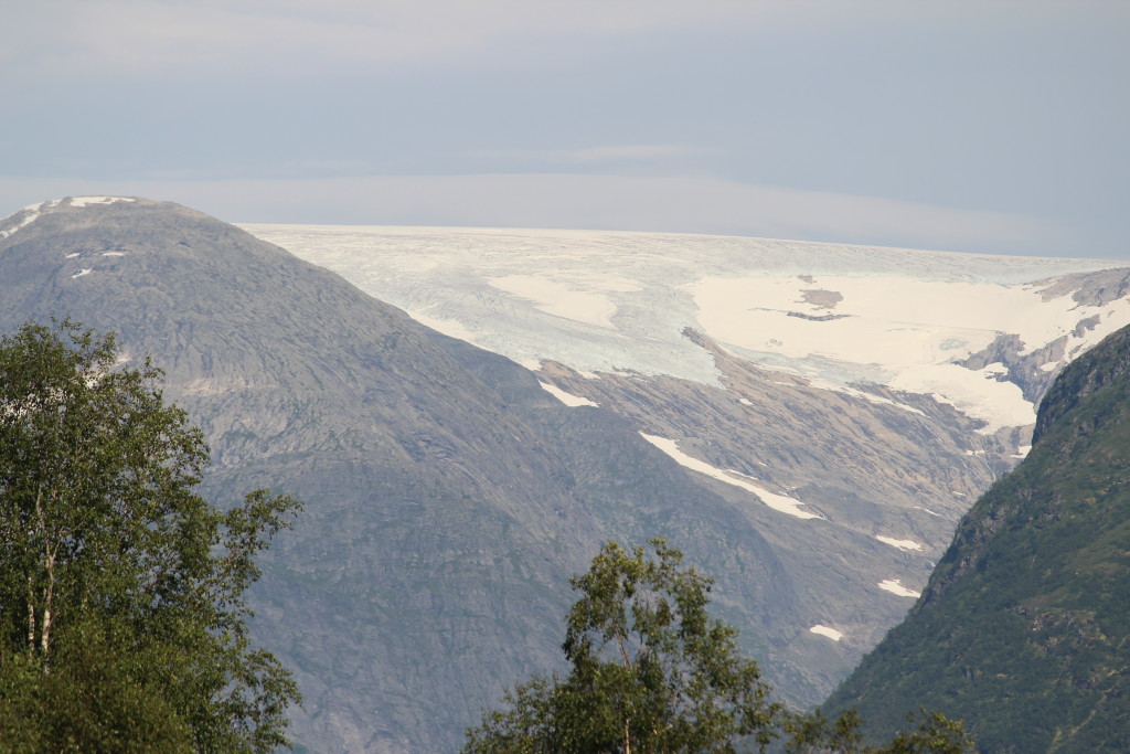
{"label": "dark green vegetated mountainside rising steeply at the right edge", "polygon": [[1130,329],[1063,370],[1032,452],[962,519],[906,621],[826,709],[910,705],[986,752],[1130,751]]}

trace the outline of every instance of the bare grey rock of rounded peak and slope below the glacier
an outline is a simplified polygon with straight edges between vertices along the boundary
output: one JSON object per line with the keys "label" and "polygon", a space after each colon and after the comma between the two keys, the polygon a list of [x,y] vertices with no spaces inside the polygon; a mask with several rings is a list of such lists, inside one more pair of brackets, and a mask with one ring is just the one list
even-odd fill
{"label": "bare grey rock of rounded peak and slope below the glacier", "polygon": [[[782,696],[819,702],[902,618],[1031,434],[985,432],[923,392],[758,362],[673,304],[657,318],[677,348],[658,331],[645,346],[683,373],[514,358],[168,202],[24,210],[0,222],[0,263],[3,331],[70,314],[167,370],[167,396],[211,444],[211,499],[268,485],[306,500],[264,560],[255,632],[296,673],[295,735],[312,751],[455,748],[505,686],[556,666],[568,578],[608,539],[683,548]],[[817,319],[789,319],[849,322],[851,296],[810,278],[789,311]],[[1124,279],[1044,289],[1110,307]],[[626,341],[593,311],[593,338]],[[557,319],[549,340],[571,327]],[[1081,343],[984,341],[968,369],[1007,363],[1025,396]]]}

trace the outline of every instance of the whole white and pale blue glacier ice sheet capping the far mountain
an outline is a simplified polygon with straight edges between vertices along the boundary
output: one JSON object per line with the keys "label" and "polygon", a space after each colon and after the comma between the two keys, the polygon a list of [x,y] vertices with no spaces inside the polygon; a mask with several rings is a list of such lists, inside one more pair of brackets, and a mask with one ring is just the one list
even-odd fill
{"label": "whole white and pale blue glacier ice sheet capping the far mountain", "polygon": [[[664,233],[244,227],[519,363],[716,385],[713,357],[684,335],[690,328],[818,387],[878,402],[892,401],[852,385],[930,395],[983,421],[985,433],[1032,424],[1035,407],[1002,365],[957,362],[1002,333],[1027,352],[1066,337],[1071,356],[1130,324],[1125,300],[1045,301],[1036,284],[1116,267],[1101,260]],[[1094,328],[1077,331],[1096,314]]]}

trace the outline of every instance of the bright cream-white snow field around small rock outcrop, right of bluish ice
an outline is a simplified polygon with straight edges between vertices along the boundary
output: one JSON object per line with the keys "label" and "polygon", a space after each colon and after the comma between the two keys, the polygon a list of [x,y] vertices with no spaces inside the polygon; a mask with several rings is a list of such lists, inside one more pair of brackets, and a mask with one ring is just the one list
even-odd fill
{"label": "bright cream-white snow field around small rock outcrop, right of bluish ice", "polygon": [[[1130,302],[1081,306],[1064,295],[1043,301],[1033,285],[955,283],[903,276],[704,278],[693,286],[698,322],[711,337],[746,352],[798,362],[873,364],[885,384],[931,395],[986,423],[982,432],[1035,421],[1018,385],[999,381],[1002,364],[970,370],[955,364],[1001,333],[1019,336],[1031,353],[1068,337],[1068,353],[1130,324]],[[834,306],[811,303],[811,292],[841,296]],[[808,295],[806,295],[808,294]],[[841,319],[814,321],[827,314]],[[1099,315],[1094,330],[1075,335],[1080,320]]]}

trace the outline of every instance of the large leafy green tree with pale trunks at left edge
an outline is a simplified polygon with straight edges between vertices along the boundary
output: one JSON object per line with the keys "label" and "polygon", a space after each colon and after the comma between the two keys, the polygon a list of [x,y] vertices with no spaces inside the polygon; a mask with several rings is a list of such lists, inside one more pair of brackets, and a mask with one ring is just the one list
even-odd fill
{"label": "large leafy green tree with pale trunks at left edge", "polygon": [[257,553],[301,503],[193,492],[163,372],[70,320],[0,339],[0,739],[15,751],[271,751],[290,674],[251,645]]}

